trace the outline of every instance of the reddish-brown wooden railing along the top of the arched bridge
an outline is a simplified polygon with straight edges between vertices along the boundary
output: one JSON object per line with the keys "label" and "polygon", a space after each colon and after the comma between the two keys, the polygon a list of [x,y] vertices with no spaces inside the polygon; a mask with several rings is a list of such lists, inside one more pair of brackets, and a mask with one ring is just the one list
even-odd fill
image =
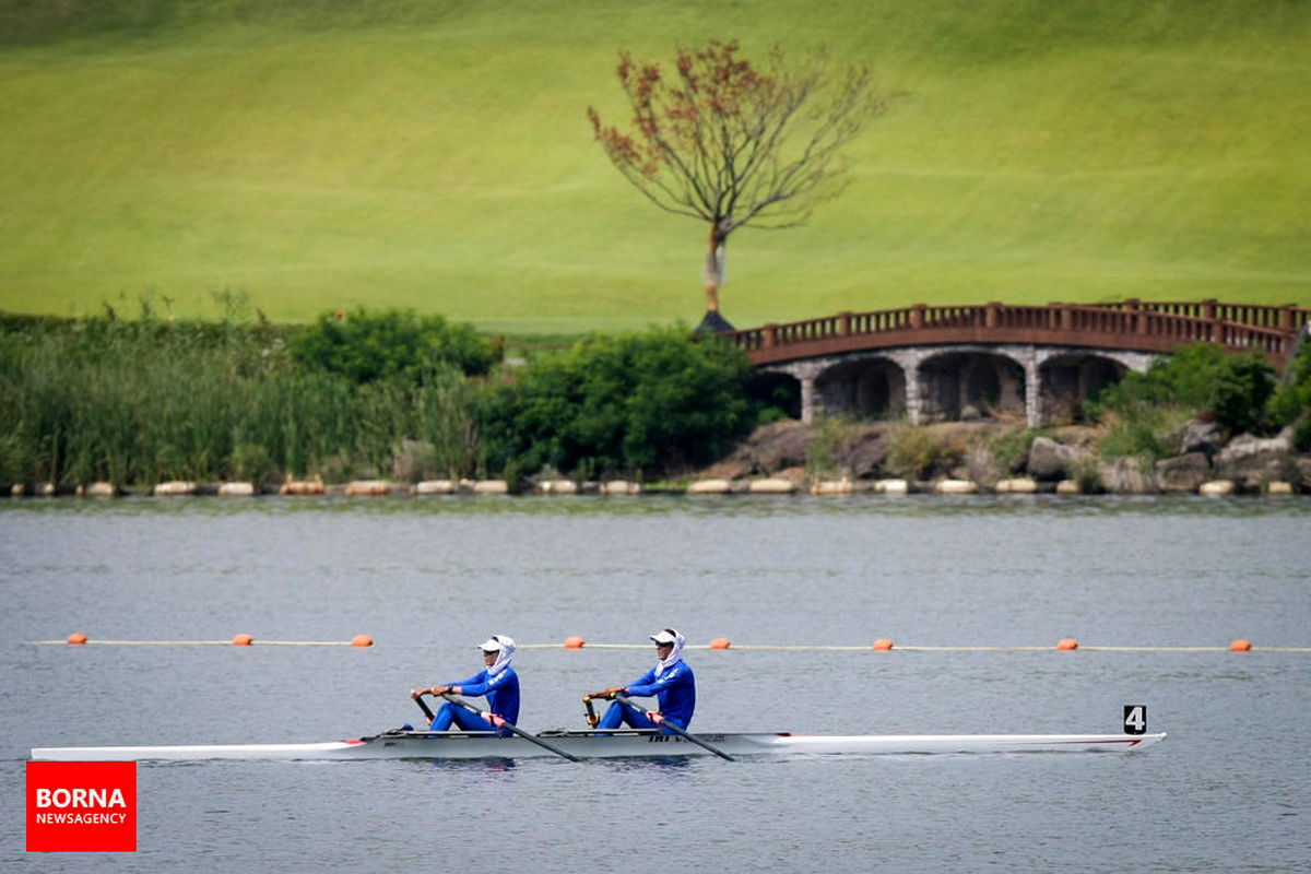
{"label": "reddish-brown wooden railing along the top of the arched bridge", "polygon": [[898,346],[937,343],[1028,343],[1168,352],[1183,343],[1259,349],[1282,366],[1311,321],[1311,309],[1285,304],[1158,303],[1011,307],[927,307],[836,313],[780,325],[728,332],[755,364]]}

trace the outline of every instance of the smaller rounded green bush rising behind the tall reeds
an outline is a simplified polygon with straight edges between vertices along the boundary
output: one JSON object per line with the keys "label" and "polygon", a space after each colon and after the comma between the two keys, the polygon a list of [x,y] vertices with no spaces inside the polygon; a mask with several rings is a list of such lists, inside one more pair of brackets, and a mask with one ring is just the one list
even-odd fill
{"label": "smaller rounded green bush rising behind the tall reeds", "polygon": [[309,371],[364,384],[400,379],[418,385],[423,373],[454,364],[467,375],[492,370],[499,350],[472,325],[442,316],[389,309],[324,313],[291,341],[291,358]]}

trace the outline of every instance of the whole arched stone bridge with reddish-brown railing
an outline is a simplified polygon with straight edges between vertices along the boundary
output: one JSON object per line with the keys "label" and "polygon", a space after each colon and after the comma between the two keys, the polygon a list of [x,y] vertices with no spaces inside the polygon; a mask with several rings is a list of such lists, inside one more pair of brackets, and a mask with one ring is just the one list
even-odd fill
{"label": "whole arched stone bridge with reddish-brown railing", "polygon": [[1260,350],[1276,368],[1311,330],[1311,309],[1198,303],[927,307],[721,334],[759,380],[800,385],[800,417],[906,415],[912,423],[1024,415],[1076,421],[1083,402],[1176,346]]}

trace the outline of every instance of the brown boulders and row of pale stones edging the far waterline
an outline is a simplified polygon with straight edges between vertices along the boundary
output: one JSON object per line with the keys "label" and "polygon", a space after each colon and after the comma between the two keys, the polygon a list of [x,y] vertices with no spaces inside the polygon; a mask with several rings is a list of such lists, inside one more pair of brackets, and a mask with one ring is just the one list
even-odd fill
{"label": "brown boulders and row of pale stones edging the far waterline", "polygon": [[[1273,438],[1238,435],[1226,440],[1213,422],[1189,422],[1171,439],[1177,455],[1145,465],[1137,459],[1104,459],[1101,431],[1068,426],[1040,435],[1016,423],[954,422],[924,426],[919,434],[939,451],[922,469],[898,465],[899,423],[846,425],[838,431],[800,422],[758,428],[726,459],[676,482],[631,480],[576,481],[539,476],[505,480],[321,478],[282,484],[169,481],[121,489],[108,482],[84,486],[10,485],[22,497],[253,497],[253,495],[637,495],[637,494],[1311,494],[1311,453],[1298,453],[1291,432]],[[826,452],[817,444],[827,442]],[[817,456],[823,456],[822,463]]]}

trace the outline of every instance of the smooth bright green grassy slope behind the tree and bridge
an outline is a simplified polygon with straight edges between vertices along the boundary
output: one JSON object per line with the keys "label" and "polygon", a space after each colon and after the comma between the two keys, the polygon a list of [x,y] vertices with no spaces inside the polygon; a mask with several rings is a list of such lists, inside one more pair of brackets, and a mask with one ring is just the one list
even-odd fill
{"label": "smooth bright green grassy slope behind the tree and bridge", "polygon": [[695,322],[704,229],[628,187],[583,110],[621,109],[617,48],[709,35],[827,45],[894,98],[842,198],[730,240],[738,325],[914,301],[1311,305],[1311,4],[382,5],[153,0],[170,14],[146,29],[0,48],[0,309],[152,295],[208,316],[228,290],[277,320],[364,303],[518,333]]}

